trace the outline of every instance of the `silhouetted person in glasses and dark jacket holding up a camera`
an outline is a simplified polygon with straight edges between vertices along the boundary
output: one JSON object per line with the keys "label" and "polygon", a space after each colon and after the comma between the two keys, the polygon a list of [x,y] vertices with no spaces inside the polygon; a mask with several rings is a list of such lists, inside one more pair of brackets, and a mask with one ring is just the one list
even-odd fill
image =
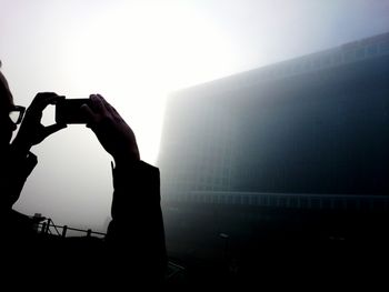
{"label": "silhouetted person in glasses and dark jacket holding up a camera", "polygon": [[[89,117],[87,127],[114,160],[112,220],[106,239],[42,239],[29,217],[12,210],[38,163],[30,149],[66,128],[66,124],[41,124],[44,108],[61,98],[56,93],[38,93],[24,113],[22,107],[14,105],[8,82],[0,72],[1,258],[7,258],[0,273],[19,278],[27,274],[26,271],[37,271],[33,276],[49,273],[64,279],[67,275],[86,278],[91,282],[104,279],[112,285],[129,286],[162,282],[167,254],[159,170],[140,160],[132,130],[99,94],[90,95],[90,104],[81,108]],[[50,183],[49,177],[47,183]],[[67,280],[60,282],[63,281]]]}

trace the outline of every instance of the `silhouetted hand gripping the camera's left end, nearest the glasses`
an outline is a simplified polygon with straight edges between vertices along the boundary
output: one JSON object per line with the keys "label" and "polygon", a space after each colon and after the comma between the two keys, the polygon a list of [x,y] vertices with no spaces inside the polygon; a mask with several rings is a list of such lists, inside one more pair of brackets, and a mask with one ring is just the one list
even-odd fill
{"label": "silhouetted hand gripping the camera's left end, nearest the glasses", "polygon": [[49,104],[56,104],[59,97],[52,92],[41,92],[36,95],[26,111],[19,132],[12,142],[18,150],[28,152],[32,145],[39,144],[50,134],[66,128],[66,124],[54,123],[48,127],[41,124],[42,112]]}

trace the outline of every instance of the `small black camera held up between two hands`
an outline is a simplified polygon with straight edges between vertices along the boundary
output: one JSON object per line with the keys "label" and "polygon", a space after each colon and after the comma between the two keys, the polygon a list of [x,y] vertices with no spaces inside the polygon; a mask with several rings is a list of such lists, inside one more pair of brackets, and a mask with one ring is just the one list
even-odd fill
{"label": "small black camera held up between two hands", "polygon": [[57,123],[88,123],[87,114],[81,110],[82,104],[89,104],[90,99],[62,99],[56,103]]}

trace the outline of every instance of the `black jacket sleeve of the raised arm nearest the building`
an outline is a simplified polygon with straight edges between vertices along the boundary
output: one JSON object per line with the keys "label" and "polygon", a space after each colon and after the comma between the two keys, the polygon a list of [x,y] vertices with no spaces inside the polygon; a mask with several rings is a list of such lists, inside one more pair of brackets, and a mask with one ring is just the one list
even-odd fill
{"label": "black jacket sleeve of the raised arm nearest the building", "polygon": [[[117,164],[113,171],[112,221],[107,241],[137,264],[163,269],[167,262],[160,207],[159,170],[142,161]],[[120,260],[119,259],[119,260]]]}

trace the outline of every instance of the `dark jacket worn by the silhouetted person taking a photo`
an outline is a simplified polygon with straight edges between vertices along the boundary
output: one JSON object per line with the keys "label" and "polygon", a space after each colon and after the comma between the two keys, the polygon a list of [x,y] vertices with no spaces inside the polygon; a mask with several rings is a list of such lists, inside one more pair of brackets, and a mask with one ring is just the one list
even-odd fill
{"label": "dark jacket worn by the silhouetted person taking a photo", "polygon": [[61,274],[69,281],[89,279],[118,286],[163,283],[167,252],[157,168],[142,161],[112,167],[112,220],[107,236],[98,239],[43,236],[30,217],[11,209],[36,164],[32,153],[11,154],[2,164],[8,171],[1,179],[1,249],[7,256],[3,265],[12,266],[3,276]]}

